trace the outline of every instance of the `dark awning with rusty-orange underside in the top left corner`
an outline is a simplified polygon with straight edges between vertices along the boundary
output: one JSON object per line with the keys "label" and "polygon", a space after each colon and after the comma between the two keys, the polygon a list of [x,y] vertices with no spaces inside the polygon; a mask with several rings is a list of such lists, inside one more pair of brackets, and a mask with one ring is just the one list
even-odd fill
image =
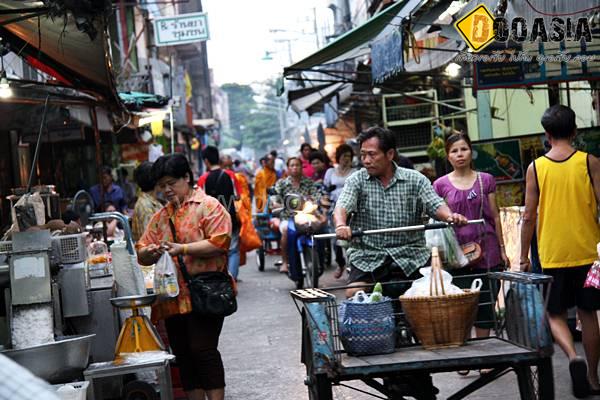
{"label": "dark awning with rusty-orange underside in the top left corner", "polygon": [[[102,10],[103,2],[95,4]],[[105,15],[101,11],[86,15],[78,16],[76,24],[67,9],[48,9],[42,2],[2,1],[0,37],[11,51],[60,84],[92,93],[112,111],[123,111],[112,74]]]}

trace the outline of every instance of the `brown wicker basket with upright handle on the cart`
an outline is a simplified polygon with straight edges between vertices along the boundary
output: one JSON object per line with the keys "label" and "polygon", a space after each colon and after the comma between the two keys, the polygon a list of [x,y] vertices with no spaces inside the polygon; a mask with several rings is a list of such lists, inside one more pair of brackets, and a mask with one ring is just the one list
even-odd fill
{"label": "brown wicker basket with upright handle on the cart", "polygon": [[[436,286],[438,279],[441,293],[445,293],[441,269],[432,266],[431,281],[436,281]],[[432,286],[430,284],[430,293],[433,293]],[[400,302],[423,347],[457,347],[463,345],[471,333],[477,315],[479,291],[464,290],[462,294],[430,297],[400,296]]]}

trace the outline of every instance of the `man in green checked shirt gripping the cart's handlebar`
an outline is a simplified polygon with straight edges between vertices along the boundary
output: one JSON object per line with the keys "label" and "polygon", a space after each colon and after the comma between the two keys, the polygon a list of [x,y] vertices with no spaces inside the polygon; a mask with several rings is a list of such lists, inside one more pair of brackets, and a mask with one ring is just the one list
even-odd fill
{"label": "man in green checked shirt gripping the cart's handlebar", "polygon": [[[334,210],[338,239],[350,240],[353,229],[370,230],[423,223],[423,213],[457,225],[467,219],[453,213],[434,191],[429,180],[417,171],[394,163],[394,133],[372,127],[358,137],[364,168],[345,182]],[[348,214],[356,213],[348,226]],[[365,284],[418,278],[418,269],[427,265],[430,253],[423,232],[388,233],[352,240],[347,252],[350,264],[346,296]]]}

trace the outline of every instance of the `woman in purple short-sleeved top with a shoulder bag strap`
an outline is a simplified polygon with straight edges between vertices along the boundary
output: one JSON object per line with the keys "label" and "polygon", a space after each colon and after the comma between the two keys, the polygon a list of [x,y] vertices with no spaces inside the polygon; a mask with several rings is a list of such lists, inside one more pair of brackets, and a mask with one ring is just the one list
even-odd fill
{"label": "woman in purple short-sleeved top with a shoulder bag strap", "polygon": [[[454,133],[446,139],[446,154],[454,171],[438,178],[433,183],[436,193],[446,200],[452,212],[468,219],[479,219],[483,211],[485,225],[466,225],[455,228],[460,244],[477,242],[482,248],[483,259],[473,266],[450,271],[454,276],[481,273],[486,270],[503,270],[508,265],[504,251],[502,226],[496,205],[496,181],[490,174],[477,172],[472,167],[473,148],[471,140],[464,133]],[[483,203],[482,203],[483,202]],[[483,210],[482,210],[483,207]],[[470,287],[470,279],[455,279],[458,286]],[[487,279],[485,280],[486,284]],[[485,285],[482,290],[488,290]],[[482,296],[483,297],[483,296]],[[489,298],[482,302],[489,302]],[[491,305],[479,306],[476,323],[477,337],[487,337],[493,326],[494,309]]]}

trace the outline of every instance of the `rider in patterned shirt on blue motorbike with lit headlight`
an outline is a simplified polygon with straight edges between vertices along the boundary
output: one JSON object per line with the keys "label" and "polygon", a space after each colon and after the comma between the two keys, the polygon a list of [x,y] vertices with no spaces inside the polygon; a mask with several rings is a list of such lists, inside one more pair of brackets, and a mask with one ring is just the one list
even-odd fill
{"label": "rider in patterned shirt on blue motorbike with lit headlight", "polygon": [[[302,175],[302,160],[298,157],[290,157],[287,160],[288,176],[280,179],[275,184],[275,193],[280,200],[283,200],[288,194],[299,194],[307,196],[313,201],[319,200],[319,192],[317,185],[313,181]],[[279,207],[279,204],[273,204],[274,208]],[[279,270],[282,273],[288,272],[288,254],[285,251],[287,249],[287,224],[288,224],[288,212],[284,210],[281,212],[279,231],[281,232],[281,258],[283,264]]]}

